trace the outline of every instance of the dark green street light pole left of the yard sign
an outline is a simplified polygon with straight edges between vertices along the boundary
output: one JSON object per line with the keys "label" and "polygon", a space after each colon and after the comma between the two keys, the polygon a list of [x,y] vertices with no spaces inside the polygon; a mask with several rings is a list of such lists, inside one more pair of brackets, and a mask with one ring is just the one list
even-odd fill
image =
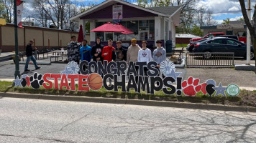
{"label": "dark green street light pole left of the yard sign", "polygon": [[19,73],[19,51],[18,51],[18,24],[17,24],[17,0],[14,0],[14,33],[15,33],[15,79],[20,78]]}

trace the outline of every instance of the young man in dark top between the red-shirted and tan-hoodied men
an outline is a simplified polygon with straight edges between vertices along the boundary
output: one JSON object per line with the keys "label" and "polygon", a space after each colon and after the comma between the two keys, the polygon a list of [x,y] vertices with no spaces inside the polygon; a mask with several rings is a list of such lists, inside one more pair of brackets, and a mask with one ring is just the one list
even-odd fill
{"label": "young man in dark top between the red-shirted and tan-hoodied men", "polygon": [[122,46],[122,41],[116,41],[116,49],[112,54],[114,61],[127,61],[127,50]]}

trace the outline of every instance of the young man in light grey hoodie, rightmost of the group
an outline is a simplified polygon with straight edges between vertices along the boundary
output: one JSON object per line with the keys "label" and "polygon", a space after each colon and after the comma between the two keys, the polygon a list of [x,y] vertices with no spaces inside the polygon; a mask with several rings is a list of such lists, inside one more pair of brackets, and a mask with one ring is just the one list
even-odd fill
{"label": "young man in light grey hoodie, rightmost of the group", "polygon": [[[161,62],[166,60],[166,51],[162,46],[161,40],[157,40],[156,43],[157,49],[153,51],[153,61],[157,62],[157,69],[159,70]],[[163,78],[165,78],[164,75]]]}

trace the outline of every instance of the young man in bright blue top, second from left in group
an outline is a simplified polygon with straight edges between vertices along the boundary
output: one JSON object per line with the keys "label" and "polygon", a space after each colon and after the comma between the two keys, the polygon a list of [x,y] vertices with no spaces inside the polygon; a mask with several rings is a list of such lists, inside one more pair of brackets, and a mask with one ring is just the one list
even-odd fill
{"label": "young man in bright blue top, second from left in group", "polygon": [[83,40],[83,46],[80,48],[81,61],[91,61],[91,47],[87,45],[87,40]]}

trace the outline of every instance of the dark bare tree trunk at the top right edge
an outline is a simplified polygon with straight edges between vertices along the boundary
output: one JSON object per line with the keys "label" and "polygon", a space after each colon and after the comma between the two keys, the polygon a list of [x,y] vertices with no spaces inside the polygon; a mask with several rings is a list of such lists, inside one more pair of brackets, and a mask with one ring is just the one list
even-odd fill
{"label": "dark bare tree trunk at the top right edge", "polygon": [[[245,8],[244,0],[239,0],[239,3],[241,6],[241,9],[242,9],[242,16],[244,16],[244,22],[251,34],[253,51],[254,51],[254,54],[256,55],[256,31],[255,31],[256,26],[255,25],[253,26],[250,23],[250,19],[248,18],[247,11]],[[255,4],[254,8],[256,8],[256,4]],[[256,24],[256,11],[253,12],[252,20]],[[256,58],[255,58],[255,74],[256,74]]]}

